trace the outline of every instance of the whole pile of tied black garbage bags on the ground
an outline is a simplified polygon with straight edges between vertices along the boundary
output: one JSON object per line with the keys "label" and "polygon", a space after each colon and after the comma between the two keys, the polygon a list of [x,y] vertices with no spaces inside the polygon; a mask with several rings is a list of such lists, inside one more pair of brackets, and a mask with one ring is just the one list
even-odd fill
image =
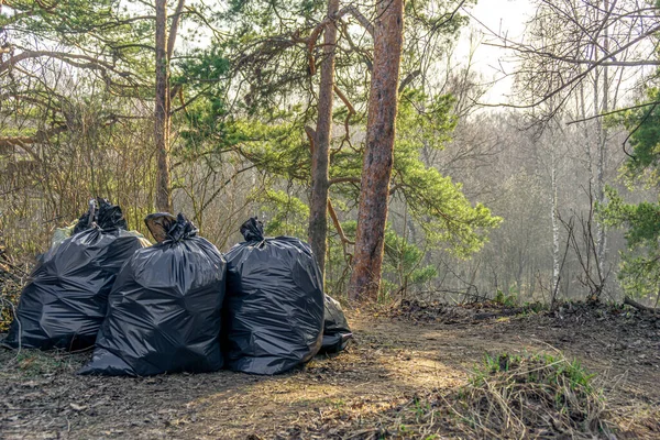
{"label": "whole pile of tied black garbage bags on the ground", "polygon": [[119,207],[90,202],[41,257],[3,344],[94,346],[80,374],[131,376],[272,375],[345,349],[351,330],[307,243],[265,238],[253,218],[222,255],[180,213],[145,223],[154,245]]}

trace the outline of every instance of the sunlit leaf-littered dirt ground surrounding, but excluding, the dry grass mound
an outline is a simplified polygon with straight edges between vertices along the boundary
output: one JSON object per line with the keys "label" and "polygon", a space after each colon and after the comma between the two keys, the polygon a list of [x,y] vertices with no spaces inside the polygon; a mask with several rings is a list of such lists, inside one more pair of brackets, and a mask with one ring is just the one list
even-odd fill
{"label": "sunlit leaf-littered dirt ground surrounding, but excluding, the dry grass mound", "polygon": [[274,377],[76,376],[90,353],[0,350],[0,438],[476,438],[452,417],[451,396],[484,355],[557,351],[596,373],[616,438],[660,438],[660,316],[483,307],[348,311],[345,352]]}

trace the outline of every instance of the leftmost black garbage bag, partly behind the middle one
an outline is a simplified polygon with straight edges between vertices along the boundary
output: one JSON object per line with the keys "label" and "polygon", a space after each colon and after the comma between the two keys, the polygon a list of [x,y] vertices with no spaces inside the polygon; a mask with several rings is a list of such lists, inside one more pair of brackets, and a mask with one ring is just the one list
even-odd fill
{"label": "leftmost black garbage bag, partly behind the middle one", "polygon": [[95,210],[88,228],[42,255],[21,294],[4,345],[94,345],[117,274],[135,251],[150,245],[142,235],[125,231],[118,206],[98,199]]}

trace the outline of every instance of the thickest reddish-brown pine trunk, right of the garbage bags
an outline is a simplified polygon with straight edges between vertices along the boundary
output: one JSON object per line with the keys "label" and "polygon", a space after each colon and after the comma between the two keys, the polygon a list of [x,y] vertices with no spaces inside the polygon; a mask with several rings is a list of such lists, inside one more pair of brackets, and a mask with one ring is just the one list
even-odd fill
{"label": "thickest reddish-brown pine trunk, right of the garbage bags", "polygon": [[381,287],[403,30],[404,1],[377,1],[355,255],[349,284],[349,296],[353,300],[376,299]]}

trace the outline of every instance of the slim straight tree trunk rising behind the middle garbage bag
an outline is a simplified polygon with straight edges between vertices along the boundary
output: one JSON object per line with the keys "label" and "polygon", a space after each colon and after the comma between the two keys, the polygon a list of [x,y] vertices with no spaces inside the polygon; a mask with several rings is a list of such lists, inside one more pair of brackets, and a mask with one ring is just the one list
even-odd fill
{"label": "slim straight tree trunk rising behind the middle garbage bag", "polygon": [[169,59],[167,57],[167,0],[156,0],[156,209],[172,212],[169,182]]}

